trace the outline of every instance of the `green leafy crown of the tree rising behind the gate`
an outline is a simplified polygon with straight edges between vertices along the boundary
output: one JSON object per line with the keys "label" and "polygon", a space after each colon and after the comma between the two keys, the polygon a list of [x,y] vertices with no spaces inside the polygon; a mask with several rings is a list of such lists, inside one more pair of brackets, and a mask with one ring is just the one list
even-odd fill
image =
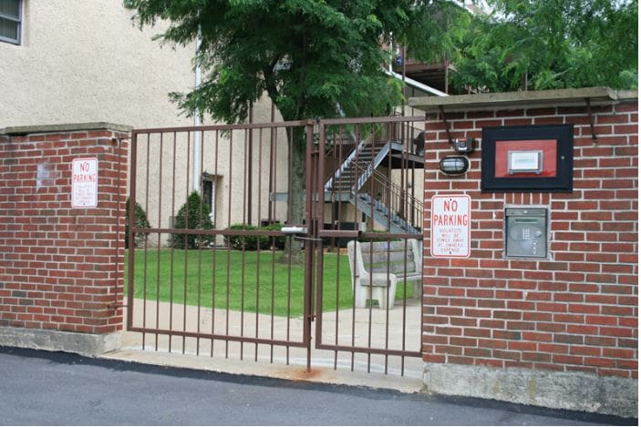
{"label": "green leafy crown of the tree rising behind the gate", "polygon": [[[388,84],[382,42],[419,7],[408,0],[126,0],[140,25],[169,19],[164,42],[186,45],[202,30],[202,86],[171,94],[187,114],[245,119],[264,91],[285,120],[378,115],[400,98]],[[440,2],[439,2],[440,3]],[[423,13],[423,12],[421,12]]]}

